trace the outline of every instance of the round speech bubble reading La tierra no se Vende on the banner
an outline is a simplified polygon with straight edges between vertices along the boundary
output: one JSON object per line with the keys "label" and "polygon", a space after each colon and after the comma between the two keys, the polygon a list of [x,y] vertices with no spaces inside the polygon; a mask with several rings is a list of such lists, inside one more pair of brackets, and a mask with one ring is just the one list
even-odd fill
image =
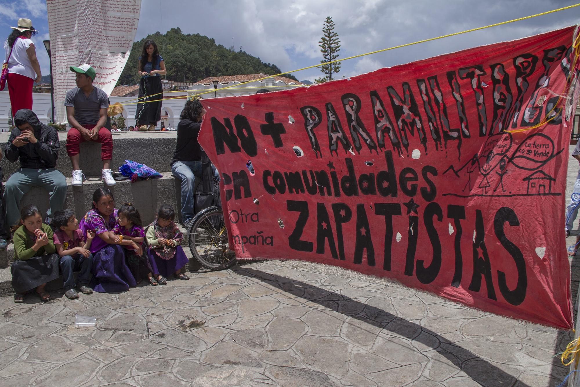
{"label": "round speech bubble reading La tierra no se Vende on the banner", "polygon": [[554,142],[543,133],[535,133],[523,140],[512,156],[512,164],[534,171],[554,157]]}

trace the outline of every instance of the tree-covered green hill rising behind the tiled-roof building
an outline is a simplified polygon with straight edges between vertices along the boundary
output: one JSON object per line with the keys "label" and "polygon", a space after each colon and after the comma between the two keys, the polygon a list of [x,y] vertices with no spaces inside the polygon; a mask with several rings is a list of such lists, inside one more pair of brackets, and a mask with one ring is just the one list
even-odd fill
{"label": "tree-covered green hill rising behind the tiled-roof building", "polygon": [[[131,55],[117,85],[139,82],[137,59],[141,56],[143,44],[147,39],[153,39],[157,44],[165,60],[166,79],[170,81],[197,82],[207,77],[221,75],[280,73],[280,68],[275,64],[263,63],[260,58],[244,51],[233,52],[216,44],[214,39],[200,34],[183,34],[180,28],[172,28],[166,34],[155,32],[133,43]],[[286,74],[285,77],[298,81],[290,74]]]}

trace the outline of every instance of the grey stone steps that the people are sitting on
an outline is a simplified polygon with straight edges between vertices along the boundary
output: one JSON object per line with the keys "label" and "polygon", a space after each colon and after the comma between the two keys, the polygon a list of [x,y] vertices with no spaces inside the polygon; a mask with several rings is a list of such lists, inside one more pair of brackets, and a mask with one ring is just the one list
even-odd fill
{"label": "grey stone steps that the people are sitting on", "polygon": [[[117,132],[118,133],[118,132]],[[100,144],[85,142],[81,144],[81,157],[79,164],[87,180],[82,186],[71,186],[71,175],[73,173],[66,152],[66,132],[59,132],[60,149],[57,159],[56,169],[59,169],[67,178],[67,197],[65,208],[72,209],[81,219],[92,207],[92,196],[99,187],[106,187],[111,190],[115,197],[117,207],[124,202],[131,202],[139,210],[144,225],[153,221],[157,209],[162,204],[169,204],[175,209],[176,222],[180,222],[181,208],[181,181],[171,174],[171,160],[175,150],[176,132],[120,132],[113,134],[113,160],[111,170],[118,171],[119,166],[125,160],[132,160],[148,165],[163,175],[161,179],[137,180],[131,183],[130,180],[121,180],[117,185],[109,187],[101,180],[101,157]],[[0,143],[8,142],[10,133],[0,133]],[[2,146],[3,150],[3,146]],[[5,157],[0,160],[0,167],[4,174],[3,181],[6,182],[10,173],[20,168],[19,162],[10,163]],[[48,192],[42,187],[32,187],[30,191],[20,201],[20,205],[36,204],[43,213],[43,218],[49,208]],[[187,256],[191,257],[188,241],[189,236],[186,230],[181,227],[184,234],[182,246]],[[0,251],[0,295],[9,295],[12,291],[10,280],[10,264],[14,259],[14,248],[9,244],[8,249]],[[193,258],[191,258],[193,259]],[[191,261],[190,259],[190,261]],[[198,267],[197,263],[190,267]],[[50,284],[51,288],[59,288],[62,281],[55,280]]]}

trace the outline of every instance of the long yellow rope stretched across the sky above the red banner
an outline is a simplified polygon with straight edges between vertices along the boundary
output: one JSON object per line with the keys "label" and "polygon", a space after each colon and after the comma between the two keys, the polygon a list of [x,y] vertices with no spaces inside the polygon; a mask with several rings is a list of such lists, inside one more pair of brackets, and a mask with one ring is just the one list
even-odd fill
{"label": "long yellow rope stretched across the sky above the red banner", "polygon": [[[580,5],[580,3],[577,3],[577,4],[569,5],[569,6],[566,6],[566,7],[563,7],[563,8],[553,9],[553,10],[546,11],[546,12],[542,12],[542,13],[536,13],[535,15],[524,16],[524,17],[519,17],[518,19],[502,21],[501,23],[490,24],[489,26],[472,28],[470,30],[465,30],[465,31],[461,31],[461,32],[454,32],[452,34],[447,34],[447,35],[441,35],[440,37],[436,37],[436,38],[423,39],[423,40],[420,40],[420,41],[416,41],[416,42],[412,42],[412,43],[407,43],[407,44],[401,44],[401,45],[394,46],[394,47],[390,47],[390,48],[383,48],[382,50],[376,50],[376,51],[367,52],[367,53],[364,53],[364,54],[349,56],[349,57],[346,57],[346,58],[343,58],[343,59],[336,59],[336,60],[332,60],[331,62],[324,62],[324,63],[314,64],[313,66],[302,67],[302,68],[298,68],[298,69],[292,70],[292,71],[285,71],[284,73],[280,73],[280,74],[267,75],[266,77],[263,77],[263,78],[252,79],[252,81],[248,81],[248,82],[242,82],[240,85],[226,86],[224,88],[221,88],[220,91],[225,90],[225,89],[229,89],[229,88],[233,88],[234,86],[241,86],[241,85],[249,84],[250,82],[262,81],[263,79],[267,79],[267,78],[279,77],[280,75],[284,75],[284,74],[296,73],[298,71],[308,70],[309,68],[315,68],[315,67],[325,66],[327,64],[332,64],[332,63],[336,63],[336,62],[342,62],[344,60],[359,58],[361,56],[372,55],[372,54],[376,54],[376,53],[379,53],[379,52],[385,52],[385,51],[394,50],[394,49],[397,49],[397,48],[412,46],[412,45],[419,44],[419,43],[431,42],[431,41],[434,41],[434,40],[437,40],[437,39],[443,39],[443,38],[448,38],[448,37],[452,37],[452,36],[455,36],[455,35],[466,34],[467,32],[484,30],[485,28],[502,26],[503,24],[513,23],[514,21],[527,20],[527,19],[531,19],[532,17],[549,15],[550,13],[560,12],[560,11],[563,11],[563,10],[571,9],[571,8],[577,7],[579,5]],[[211,92],[213,92],[213,90],[208,90],[208,91],[205,91],[203,93],[197,93],[197,94],[195,94],[193,96],[190,96],[190,97],[197,97],[197,96],[200,96],[200,95],[203,95],[203,94],[207,94],[207,93],[211,93]],[[159,102],[159,101],[162,101],[162,100],[179,99],[179,98],[182,98],[182,97],[172,97],[172,98],[158,99],[158,100],[147,101],[147,102]],[[137,102],[137,104],[139,104],[139,103],[145,103],[145,102]],[[133,105],[133,104],[135,104],[135,103],[125,103],[125,104],[122,104],[121,106]],[[526,130],[530,130],[530,129],[526,129]]]}

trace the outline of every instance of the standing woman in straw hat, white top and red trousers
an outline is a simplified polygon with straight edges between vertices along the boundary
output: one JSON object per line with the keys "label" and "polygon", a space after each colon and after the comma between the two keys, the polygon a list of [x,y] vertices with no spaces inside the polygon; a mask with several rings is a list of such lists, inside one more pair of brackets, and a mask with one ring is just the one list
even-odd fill
{"label": "standing woman in straw hat, white top and red trousers", "polygon": [[8,93],[12,116],[20,109],[32,110],[32,84],[40,82],[42,75],[36,57],[34,43],[30,40],[36,30],[30,19],[18,19],[18,27],[6,39],[6,61],[8,63]]}

